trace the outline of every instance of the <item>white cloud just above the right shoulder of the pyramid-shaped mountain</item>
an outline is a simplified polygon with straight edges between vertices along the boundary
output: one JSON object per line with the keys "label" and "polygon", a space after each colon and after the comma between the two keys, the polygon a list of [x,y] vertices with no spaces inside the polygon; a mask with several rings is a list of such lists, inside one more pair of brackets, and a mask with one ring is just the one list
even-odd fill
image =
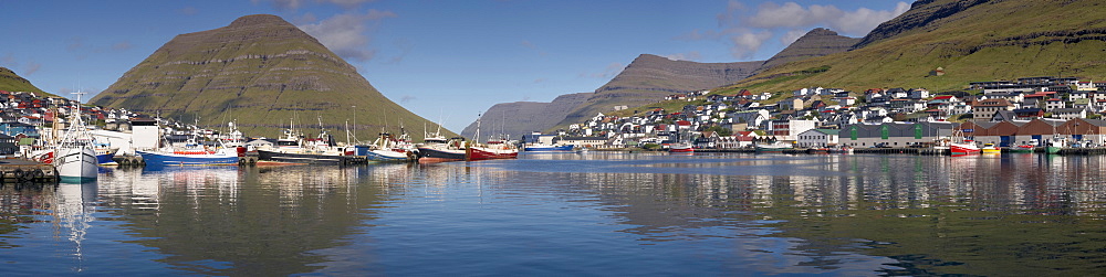
{"label": "white cloud just above the right shoulder of the pyramid-shaped mountain", "polygon": [[369,32],[386,18],[396,18],[390,11],[368,10],[366,13],[343,13],[300,29],[345,58],[361,62],[373,60],[376,50],[369,47]]}

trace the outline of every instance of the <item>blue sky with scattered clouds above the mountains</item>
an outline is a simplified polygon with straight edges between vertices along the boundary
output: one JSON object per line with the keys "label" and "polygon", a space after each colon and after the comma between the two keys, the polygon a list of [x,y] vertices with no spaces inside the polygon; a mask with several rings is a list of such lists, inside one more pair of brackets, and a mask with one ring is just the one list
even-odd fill
{"label": "blue sky with scattered clouds above the mountains", "polygon": [[177,34],[275,14],[393,102],[459,132],[498,103],[593,92],[640,54],[766,60],[814,28],[859,38],[907,9],[893,0],[3,1],[0,66],[87,100]]}

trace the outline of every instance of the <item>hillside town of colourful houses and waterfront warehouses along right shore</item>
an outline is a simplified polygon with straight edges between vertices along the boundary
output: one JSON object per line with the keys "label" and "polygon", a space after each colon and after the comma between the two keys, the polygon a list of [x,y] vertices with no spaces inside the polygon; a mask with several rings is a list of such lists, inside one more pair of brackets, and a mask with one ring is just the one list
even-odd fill
{"label": "hillside town of colourful houses and waterfront warehouses along right shore", "polygon": [[669,103],[686,102],[680,110],[598,114],[557,134],[535,132],[526,140],[601,149],[664,149],[682,140],[698,149],[743,149],[770,141],[795,148],[908,148],[927,147],[959,132],[999,147],[1041,146],[1054,137],[1070,141],[1066,147],[1106,146],[1106,121],[1099,120],[1106,111],[1106,83],[1024,77],[970,83],[967,90],[700,90],[665,97]]}

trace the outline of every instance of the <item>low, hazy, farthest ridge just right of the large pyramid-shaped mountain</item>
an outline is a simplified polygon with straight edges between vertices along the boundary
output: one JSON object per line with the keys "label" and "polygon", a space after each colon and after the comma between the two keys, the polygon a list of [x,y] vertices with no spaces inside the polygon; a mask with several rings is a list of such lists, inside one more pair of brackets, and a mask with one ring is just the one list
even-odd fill
{"label": "low, hazy, farthest ridge just right of the large pyramid-shaped mountain", "polygon": [[[550,103],[514,102],[500,103],[488,108],[480,117],[480,137],[508,135],[511,139],[521,139],[522,135],[542,131],[568,116],[568,111],[583,104],[592,93],[565,94]],[[472,138],[477,131],[477,122],[470,124],[461,131],[461,136]]]}

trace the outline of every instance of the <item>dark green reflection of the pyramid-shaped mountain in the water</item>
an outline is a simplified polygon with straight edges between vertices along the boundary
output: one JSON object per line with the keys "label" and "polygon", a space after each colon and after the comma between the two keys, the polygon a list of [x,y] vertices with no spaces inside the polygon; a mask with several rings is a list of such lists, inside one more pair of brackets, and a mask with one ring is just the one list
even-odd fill
{"label": "dark green reflection of the pyramid-shaped mountain in the water", "polygon": [[[401,169],[400,169],[401,170]],[[356,185],[378,168],[180,168],[116,171],[103,202],[158,262],[205,275],[289,275],[332,260],[314,252],[348,245],[380,189]],[[386,179],[386,177],[384,178]],[[371,260],[365,260],[372,263]]]}

